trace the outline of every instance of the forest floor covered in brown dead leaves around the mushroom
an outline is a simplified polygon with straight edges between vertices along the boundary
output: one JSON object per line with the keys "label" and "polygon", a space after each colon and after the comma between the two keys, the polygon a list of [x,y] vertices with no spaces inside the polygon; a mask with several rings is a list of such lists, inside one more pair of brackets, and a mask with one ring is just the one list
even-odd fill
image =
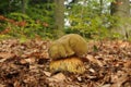
{"label": "forest floor covered in brown dead leaves around the mushroom", "polygon": [[131,42],[88,41],[84,74],[49,72],[48,40],[0,41],[0,87],[131,87]]}

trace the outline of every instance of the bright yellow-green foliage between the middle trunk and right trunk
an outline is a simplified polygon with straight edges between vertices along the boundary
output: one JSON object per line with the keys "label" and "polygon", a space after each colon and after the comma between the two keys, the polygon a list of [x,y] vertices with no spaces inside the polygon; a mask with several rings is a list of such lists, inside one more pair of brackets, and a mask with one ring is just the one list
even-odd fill
{"label": "bright yellow-green foliage between the middle trunk and right trunk", "polygon": [[114,0],[103,1],[103,4],[97,0],[80,0],[71,3],[67,10],[70,26],[66,27],[66,33],[81,34],[90,39],[119,38],[120,36],[116,37],[117,34],[111,33],[111,26],[119,24],[116,23],[118,17],[109,13],[107,3],[110,1]]}

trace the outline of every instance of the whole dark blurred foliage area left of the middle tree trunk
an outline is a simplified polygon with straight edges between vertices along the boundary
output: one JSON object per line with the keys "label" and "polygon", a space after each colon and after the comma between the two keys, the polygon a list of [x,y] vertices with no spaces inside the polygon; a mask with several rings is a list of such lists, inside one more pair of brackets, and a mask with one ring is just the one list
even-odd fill
{"label": "whole dark blurred foliage area left of the middle tree trunk", "polygon": [[49,0],[4,0],[0,10],[2,37],[52,37],[53,3]]}

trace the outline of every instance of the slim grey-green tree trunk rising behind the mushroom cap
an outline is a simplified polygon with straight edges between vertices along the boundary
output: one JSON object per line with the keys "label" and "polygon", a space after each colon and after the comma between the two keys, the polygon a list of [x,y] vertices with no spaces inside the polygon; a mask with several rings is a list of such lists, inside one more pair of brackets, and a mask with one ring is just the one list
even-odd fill
{"label": "slim grey-green tree trunk rising behind the mushroom cap", "polygon": [[61,37],[64,28],[64,0],[55,0],[55,34]]}

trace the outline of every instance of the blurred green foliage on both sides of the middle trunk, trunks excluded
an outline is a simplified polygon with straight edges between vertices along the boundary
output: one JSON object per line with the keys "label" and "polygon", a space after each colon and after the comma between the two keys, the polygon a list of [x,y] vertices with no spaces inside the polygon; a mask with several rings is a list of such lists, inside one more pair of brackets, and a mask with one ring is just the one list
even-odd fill
{"label": "blurred green foliage on both sides of the middle trunk, trunks excluded", "polygon": [[[110,14],[114,1],[64,0],[63,32],[80,34],[87,39],[121,38],[120,34],[110,30],[120,25],[116,22],[119,17]],[[1,0],[0,37],[55,38],[53,15],[53,0]]]}

